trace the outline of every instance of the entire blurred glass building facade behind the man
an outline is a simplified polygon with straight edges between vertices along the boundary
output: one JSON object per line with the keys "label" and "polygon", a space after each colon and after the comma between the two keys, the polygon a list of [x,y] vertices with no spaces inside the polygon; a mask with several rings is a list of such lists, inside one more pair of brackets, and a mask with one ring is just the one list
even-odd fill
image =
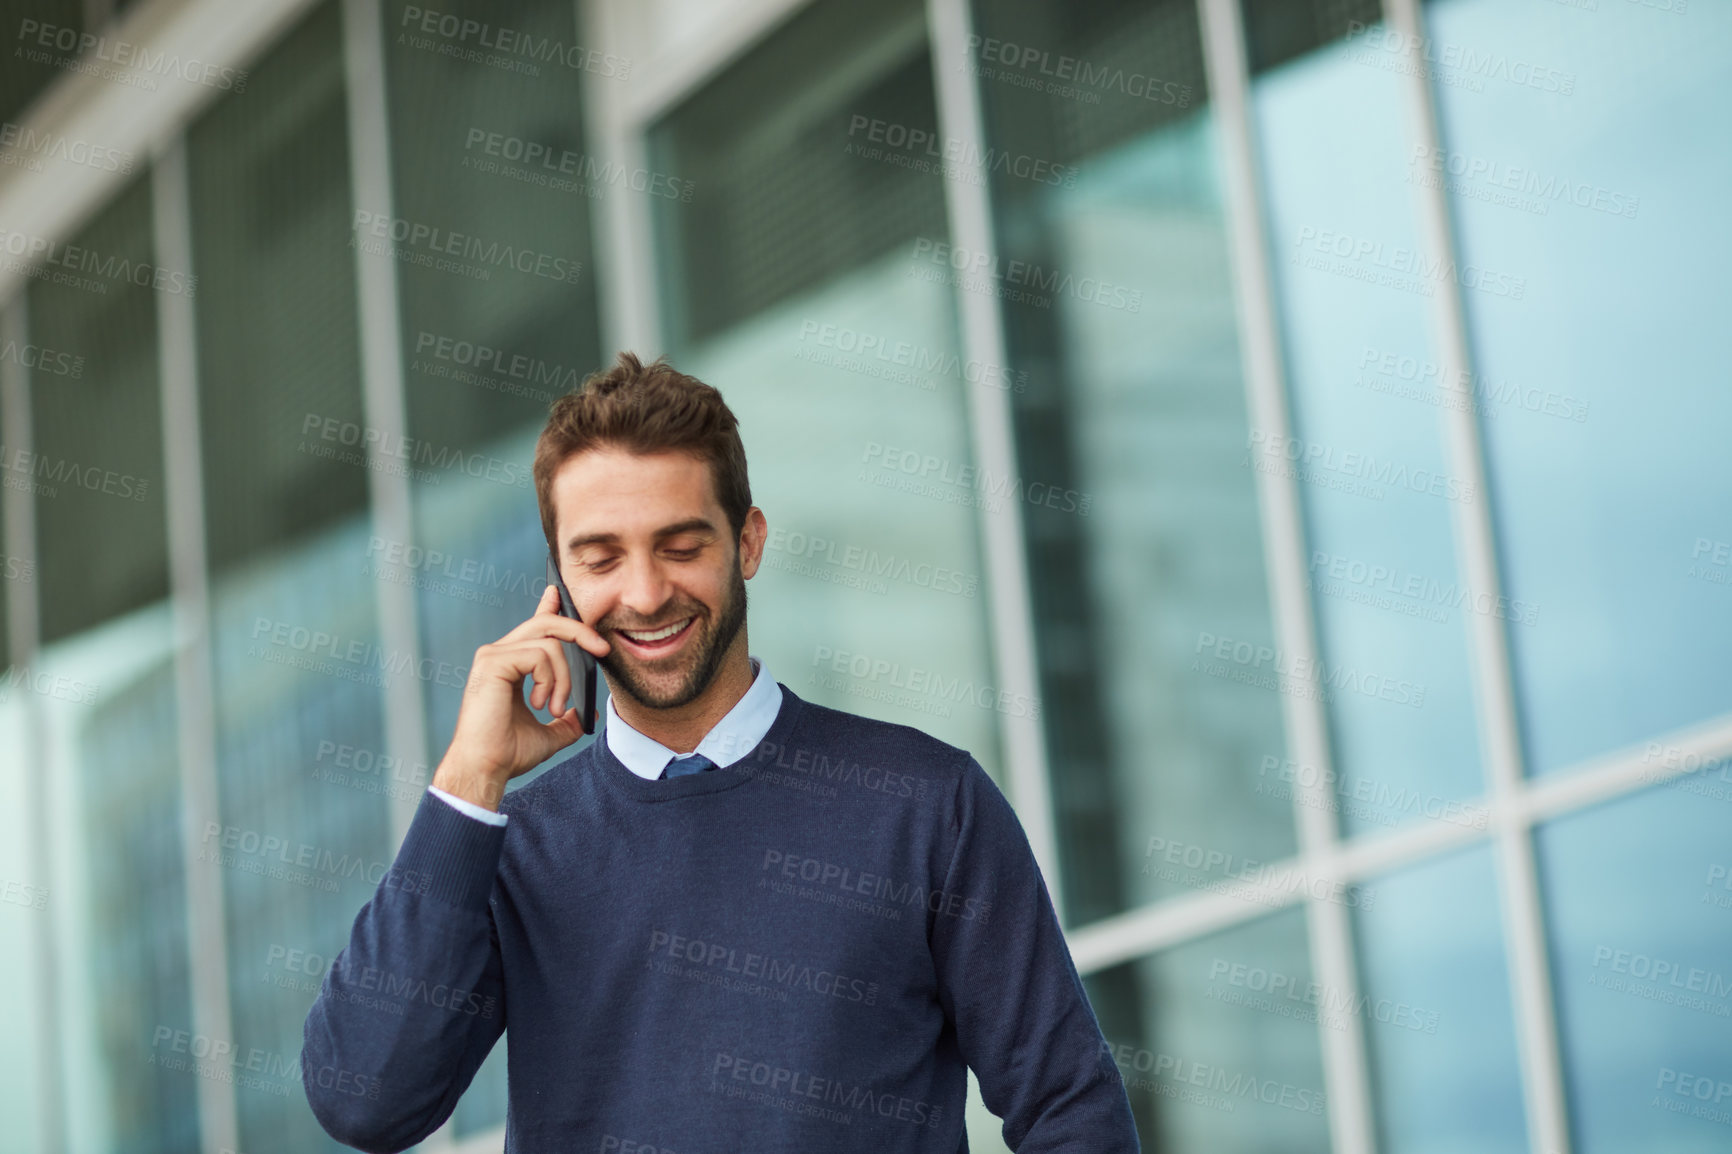
{"label": "entire blurred glass building facade behind the man", "polygon": [[1143,1149],[1732,1147],[1732,9],[0,7],[0,1152],[341,1149],[617,348],[741,419],[753,653],[1015,804]]}

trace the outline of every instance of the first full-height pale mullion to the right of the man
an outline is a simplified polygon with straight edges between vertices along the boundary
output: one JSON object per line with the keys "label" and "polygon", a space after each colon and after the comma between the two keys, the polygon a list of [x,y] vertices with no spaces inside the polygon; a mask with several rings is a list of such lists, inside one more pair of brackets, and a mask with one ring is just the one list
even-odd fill
{"label": "first full-height pale mullion to the right of the man", "polygon": [[[1252,426],[1268,431],[1268,444],[1287,444],[1287,381],[1282,364],[1280,324],[1275,314],[1275,282],[1268,263],[1266,215],[1251,118],[1251,68],[1245,59],[1245,29],[1237,0],[1199,0],[1209,99],[1216,109],[1221,140],[1221,177],[1233,260],[1240,340],[1245,350],[1245,392]],[[1270,567],[1275,634],[1282,652],[1299,667],[1315,669],[1316,624],[1306,594],[1304,528],[1297,480],[1276,468],[1256,470],[1257,501],[1263,509],[1263,542]],[[1330,768],[1328,717],[1315,695],[1287,693],[1282,703],[1287,740],[1294,759],[1320,769]],[[1311,787],[1296,781],[1294,820],[1306,870],[1328,875],[1339,832],[1335,807],[1318,773]],[[1313,887],[1306,887],[1315,894]],[[1328,887],[1325,887],[1328,892]],[[1306,899],[1311,967],[1316,981],[1351,1005],[1358,993],[1353,956],[1353,925],[1347,910],[1323,898]],[[1375,1149],[1370,1076],[1363,1024],[1330,1029],[1318,1019],[1328,1123],[1337,1154],[1370,1154]]]}

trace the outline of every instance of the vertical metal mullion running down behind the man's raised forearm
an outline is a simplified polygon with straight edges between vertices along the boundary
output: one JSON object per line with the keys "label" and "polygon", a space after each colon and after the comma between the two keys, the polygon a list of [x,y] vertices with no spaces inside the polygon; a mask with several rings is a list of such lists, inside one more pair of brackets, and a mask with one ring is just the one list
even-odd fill
{"label": "vertical metal mullion running down behind the man's raised forearm", "polygon": [[[343,68],[348,87],[348,163],[355,208],[393,218],[391,151],[386,123],[385,38],[379,0],[343,0]],[[397,265],[388,255],[355,246],[355,298],[360,310],[360,400],[364,419],[378,437],[367,447],[367,494],[374,532],[386,541],[414,542],[414,501],[409,477],[393,470],[386,445],[407,444],[409,412],[404,399],[402,314]],[[416,589],[376,580],[379,641],[400,655],[405,669],[421,667],[421,631],[416,624]],[[385,684],[385,747],[405,766],[428,764],[426,700],[414,676]],[[391,842],[409,832],[419,797],[388,795]]]}

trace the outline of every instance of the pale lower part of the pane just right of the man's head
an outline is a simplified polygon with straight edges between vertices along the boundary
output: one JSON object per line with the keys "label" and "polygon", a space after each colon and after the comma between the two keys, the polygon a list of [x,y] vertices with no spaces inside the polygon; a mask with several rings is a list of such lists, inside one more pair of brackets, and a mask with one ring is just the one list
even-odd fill
{"label": "pale lower part of the pane just right of the man's head", "polygon": [[909,480],[901,463],[944,461],[953,478],[972,468],[968,386],[909,388],[811,364],[812,333],[826,327],[892,334],[960,364],[949,295],[909,281],[899,255],[684,357],[740,416],[752,497],[769,522],[750,594],[776,608],[752,615],[752,652],[807,700],[918,726],[998,773],[1003,712],[1039,703],[991,691],[975,509],[956,502],[968,496],[956,483],[895,485]]}

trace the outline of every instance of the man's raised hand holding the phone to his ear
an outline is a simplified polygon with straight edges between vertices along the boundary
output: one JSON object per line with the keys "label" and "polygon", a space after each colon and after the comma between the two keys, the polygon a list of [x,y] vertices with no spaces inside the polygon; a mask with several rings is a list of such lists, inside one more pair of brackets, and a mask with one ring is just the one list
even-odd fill
{"label": "man's raised hand holding the phone to his ear", "polygon": [[[606,657],[613,648],[584,622],[561,617],[559,591],[547,586],[533,617],[475,652],[457,710],[457,731],[433,775],[433,785],[497,811],[506,781],[584,736],[577,709],[566,707],[584,686],[572,684],[561,641],[575,641],[596,657]],[[530,703],[556,710],[553,721],[542,724],[523,703],[523,677],[533,677]]]}

